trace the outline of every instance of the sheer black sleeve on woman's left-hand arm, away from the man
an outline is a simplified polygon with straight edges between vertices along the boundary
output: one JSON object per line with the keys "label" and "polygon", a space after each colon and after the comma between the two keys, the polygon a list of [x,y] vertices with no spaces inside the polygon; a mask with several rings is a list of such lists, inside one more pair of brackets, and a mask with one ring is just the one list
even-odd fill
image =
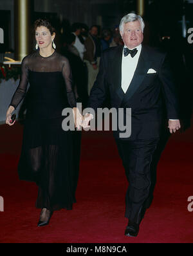
{"label": "sheer black sleeve on woman's left-hand arm, away from the man", "polygon": [[25,57],[21,63],[21,78],[19,81],[19,85],[12,97],[12,101],[10,103],[15,109],[19,105],[19,103],[23,100],[24,96],[26,95],[28,87],[28,60]]}

